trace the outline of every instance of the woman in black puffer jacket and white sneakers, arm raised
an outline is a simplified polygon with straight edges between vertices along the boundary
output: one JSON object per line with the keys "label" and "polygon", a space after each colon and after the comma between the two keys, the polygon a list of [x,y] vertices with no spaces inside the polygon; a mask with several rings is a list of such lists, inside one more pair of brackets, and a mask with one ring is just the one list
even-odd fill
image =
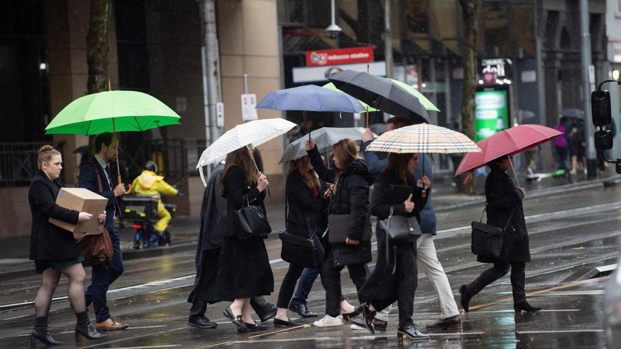
{"label": "woman in black puffer jacket and white sneakers, arm raised", "polygon": [[[343,325],[339,315],[348,319],[358,313],[347,302],[341,301],[340,272],[347,266],[351,281],[360,289],[366,281],[365,263],[371,261],[371,240],[361,241],[364,220],[369,219],[369,184],[373,179],[365,161],[358,158],[358,145],[343,139],[333,145],[334,167],[327,168],[312,140],[306,142],[306,151],[319,178],[334,183],[330,193],[330,214],[350,214],[347,238],[342,243],[329,243],[324,263],[325,317],[315,321],[318,327]],[[333,232],[335,233],[335,232]],[[329,232],[330,234],[330,232]],[[339,304],[340,303],[340,304]]]}

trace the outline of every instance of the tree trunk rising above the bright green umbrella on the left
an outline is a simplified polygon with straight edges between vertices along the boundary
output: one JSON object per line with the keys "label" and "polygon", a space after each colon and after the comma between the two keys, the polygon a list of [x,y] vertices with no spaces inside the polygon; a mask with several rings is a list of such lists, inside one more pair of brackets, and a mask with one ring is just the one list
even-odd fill
{"label": "tree trunk rising above the bright green umbrella on the left", "polygon": [[108,88],[111,9],[112,0],[91,0],[91,19],[86,35],[88,94],[106,91]]}

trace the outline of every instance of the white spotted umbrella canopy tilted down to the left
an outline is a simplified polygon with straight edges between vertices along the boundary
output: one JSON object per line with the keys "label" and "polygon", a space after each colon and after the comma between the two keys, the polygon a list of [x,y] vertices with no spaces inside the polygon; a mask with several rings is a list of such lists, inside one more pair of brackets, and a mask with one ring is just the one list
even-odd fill
{"label": "white spotted umbrella canopy tilted down to the left", "polygon": [[293,122],[280,118],[252,120],[237,125],[221,135],[202,152],[196,168],[222,161],[228,153],[246,147],[248,144],[256,147],[268,142],[294,127],[296,124]]}

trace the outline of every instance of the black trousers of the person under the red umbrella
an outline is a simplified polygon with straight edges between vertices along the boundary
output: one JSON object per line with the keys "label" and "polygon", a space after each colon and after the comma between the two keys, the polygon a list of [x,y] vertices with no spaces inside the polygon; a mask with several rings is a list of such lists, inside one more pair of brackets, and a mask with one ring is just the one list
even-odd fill
{"label": "black trousers of the person under the red umbrella", "polygon": [[526,292],[524,291],[524,286],[526,283],[526,274],[525,267],[526,263],[522,261],[507,261],[504,263],[494,263],[494,266],[474,279],[473,282],[469,283],[466,286],[466,290],[468,294],[474,296],[475,294],[481,292],[485,286],[493,283],[497,279],[502,278],[507,273],[509,273],[509,267],[511,268],[511,288],[513,291],[513,302],[521,303],[526,301]]}

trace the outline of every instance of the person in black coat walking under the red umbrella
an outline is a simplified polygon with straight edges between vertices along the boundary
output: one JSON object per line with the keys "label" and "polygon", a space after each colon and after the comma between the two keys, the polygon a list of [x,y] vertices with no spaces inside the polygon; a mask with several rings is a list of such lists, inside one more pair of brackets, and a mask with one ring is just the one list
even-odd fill
{"label": "person in black coat walking under the red umbrella", "polygon": [[[513,181],[506,173],[511,168],[509,156],[503,155],[486,164],[490,168],[485,181],[485,197],[487,224],[494,227],[505,227],[502,238],[501,255],[497,260],[478,256],[481,263],[494,263],[491,269],[484,271],[468,285],[461,285],[461,306],[468,312],[470,299],[485,286],[502,278],[511,268],[511,287],[513,291],[513,307],[515,311],[534,312],[541,308],[533,307],[526,301],[524,291],[526,283],[525,266],[530,261],[528,247],[528,231],[524,220],[524,188],[515,188]],[[509,222],[509,224],[507,224]]]}

